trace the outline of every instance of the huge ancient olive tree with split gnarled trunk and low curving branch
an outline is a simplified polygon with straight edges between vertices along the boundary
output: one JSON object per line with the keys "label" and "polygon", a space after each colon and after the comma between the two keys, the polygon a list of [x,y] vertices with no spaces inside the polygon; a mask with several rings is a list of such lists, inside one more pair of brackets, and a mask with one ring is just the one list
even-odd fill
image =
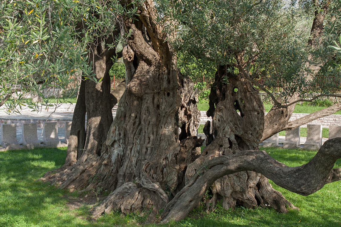
{"label": "huge ancient olive tree with split gnarled trunk and low curving branch", "polygon": [[[185,9],[194,7],[195,12],[189,13],[190,16],[213,3],[224,4],[225,7],[213,8],[235,18],[235,27],[238,27],[238,21],[245,19],[236,17],[237,14],[242,16],[251,12],[255,16],[251,18],[259,21],[246,21],[246,25],[255,26],[265,25],[264,20],[267,16],[270,18],[271,12],[283,13],[275,11],[278,4],[273,1],[257,4],[240,1],[239,6],[247,11],[241,8],[238,13],[234,12],[239,9],[234,1],[194,1],[191,7],[184,7],[178,1],[156,4],[151,0],[66,0],[50,4],[49,7],[55,7],[55,11],[64,15],[73,26],[74,40],[88,50],[86,64],[94,79],[82,81],[76,105],[79,109],[72,125],[74,139],[68,147],[65,165],[46,173],[42,180],[70,190],[101,188],[111,191],[91,210],[94,217],[112,210],[127,213],[151,209],[153,218],[164,208],[161,218],[166,222],[186,216],[207,190],[212,194],[212,198],[206,201],[208,209],[221,198],[224,208],[236,204],[245,207],[268,205],[286,212],[287,207],[294,206],[271,187],[266,177],[302,195],[340,179],[340,169],[332,168],[340,158],[341,138],[326,142],[311,162],[295,168],[289,168],[258,150],[265,123],[264,106],[259,91],[247,74],[242,73],[244,68],[239,68],[239,73],[235,71],[237,63],[248,61],[246,55],[228,48],[226,54],[218,50],[220,55],[231,56],[228,52],[231,51],[238,62],[231,58],[222,62],[217,70],[217,83],[210,95],[208,111],[213,116],[213,132],[207,132],[210,143],[200,153],[198,147],[203,140],[195,136],[199,123],[197,96],[193,84],[179,73],[172,45],[181,40],[183,36],[180,34],[188,24],[172,17],[169,11],[160,10],[167,6],[168,10],[182,11],[187,15]],[[219,28],[221,33],[227,34],[224,27],[215,22],[221,15],[216,15],[216,11],[207,11],[204,15],[206,13],[209,17],[200,21],[217,25],[217,32]],[[238,42],[241,42],[250,50],[256,48],[250,43],[242,43],[246,34],[239,30],[233,32],[239,36],[231,40],[223,38],[220,42],[227,43],[226,47],[233,46],[233,43],[239,46]],[[91,39],[85,39],[89,34]],[[261,40],[262,35],[258,39]],[[205,42],[196,44],[206,49],[202,55],[218,55],[217,48],[205,46]],[[120,45],[126,85],[113,120],[109,113],[113,101],[107,78],[111,58],[119,51]],[[88,118],[86,137],[82,128],[85,113]],[[315,171],[313,176],[312,169]],[[309,181],[301,176],[310,177]]]}

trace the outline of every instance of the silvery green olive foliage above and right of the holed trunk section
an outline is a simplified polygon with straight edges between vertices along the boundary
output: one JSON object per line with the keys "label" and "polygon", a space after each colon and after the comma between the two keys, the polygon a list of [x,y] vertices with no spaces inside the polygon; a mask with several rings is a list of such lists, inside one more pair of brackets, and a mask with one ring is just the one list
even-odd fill
{"label": "silvery green olive foliage above and right of the holed trunk section", "polygon": [[[327,46],[341,28],[340,3],[328,4],[317,49],[307,45],[315,11],[307,5],[303,9],[281,0],[160,0],[158,9],[159,22],[168,23],[169,32],[176,34],[170,42],[187,58],[183,61],[194,57],[210,66],[232,65],[236,74],[246,72],[285,100],[295,92],[310,98],[312,91],[335,95],[339,90],[340,65]],[[323,65],[317,75],[307,67],[314,64]],[[307,80],[311,76],[314,79]]]}

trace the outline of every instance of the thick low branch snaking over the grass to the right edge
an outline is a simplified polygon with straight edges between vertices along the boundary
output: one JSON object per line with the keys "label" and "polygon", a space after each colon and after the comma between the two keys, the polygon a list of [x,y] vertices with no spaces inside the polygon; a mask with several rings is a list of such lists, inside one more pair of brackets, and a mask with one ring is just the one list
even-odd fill
{"label": "thick low branch snaking over the grass to the right edge", "polygon": [[172,199],[162,214],[162,222],[179,221],[200,202],[209,187],[222,176],[254,171],[277,185],[300,195],[310,195],[325,184],[341,180],[341,168],[333,169],[341,158],[341,137],[328,140],[315,157],[302,166],[289,167],[265,151],[244,150],[203,163],[190,182]]}

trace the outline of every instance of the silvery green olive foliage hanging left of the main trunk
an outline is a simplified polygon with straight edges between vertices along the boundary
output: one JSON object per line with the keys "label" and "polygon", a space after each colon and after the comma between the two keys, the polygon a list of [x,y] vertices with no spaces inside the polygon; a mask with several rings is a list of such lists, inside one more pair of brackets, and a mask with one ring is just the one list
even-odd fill
{"label": "silvery green olive foliage hanging left of the main trunk", "polygon": [[[59,88],[63,98],[74,97],[75,72],[94,80],[91,48],[106,44],[119,28],[121,15],[136,9],[118,1],[95,0],[5,0],[0,3],[0,102],[20,87],[5,103],[10,112],[23,106],[35,110],[37,103],[23,99],[28,93],[39,96]],[[75,89],[74,91],[76,91]]]}

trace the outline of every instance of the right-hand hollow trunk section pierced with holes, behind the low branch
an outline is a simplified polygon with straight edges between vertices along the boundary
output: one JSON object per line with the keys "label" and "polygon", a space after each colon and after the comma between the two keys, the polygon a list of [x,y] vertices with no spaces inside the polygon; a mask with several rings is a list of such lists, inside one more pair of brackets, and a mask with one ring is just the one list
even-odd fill
{"label": "right-hand hollow trunk section pierced with holes, behind the low branch", "polygon": [[[210,136],[214,139],[202,155],[188,166],[187,183],[202,163],[243,150],[258,150],[265,114],[260,94],[247,79],[227,72],[225,67],[221,66],[216,73],[207,111],[207,115],[213,118]],[[206,200],[207,209],[213,209],[219,198],[222,198],[225,209],[236,204],[248,208],[267,205],[286,212],[286,206],[292,206],[281,193],[272,189],[267,178],[251,171],[217,179],[209,193],[212,197]]]}

